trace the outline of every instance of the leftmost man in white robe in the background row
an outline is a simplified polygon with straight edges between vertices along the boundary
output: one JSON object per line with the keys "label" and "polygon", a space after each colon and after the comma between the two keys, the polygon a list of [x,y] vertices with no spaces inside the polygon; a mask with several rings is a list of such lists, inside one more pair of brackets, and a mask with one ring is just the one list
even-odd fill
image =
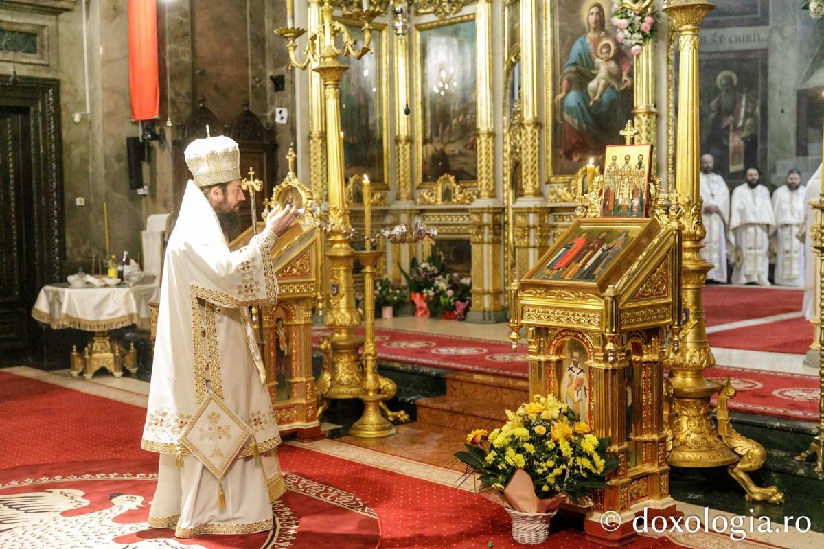
{"label": "leftmost man in white robe in the background row", "polygon": [[713,268],[707,280],[727,283],[727,226],[729,225],[729,187],[719,174],[714,173],[712,155],[701,156],[701,200],[707,235],[701,257]]}

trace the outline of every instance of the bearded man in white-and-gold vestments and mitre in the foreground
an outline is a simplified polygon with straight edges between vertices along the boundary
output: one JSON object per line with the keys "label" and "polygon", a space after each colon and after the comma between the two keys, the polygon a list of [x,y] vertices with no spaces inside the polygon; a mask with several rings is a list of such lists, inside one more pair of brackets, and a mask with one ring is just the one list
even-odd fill
{"label": "bearded man in white-and-gold vestments and mitre in the foreground", "polygon": [[[222,220],[236,216],[244,201],[237,143],[198,139],[186,148],[185,160],[193,179],[166,248],[141,442],[160,454],[148,522],[175,528],[177,537],[265,531],[273,528],[271,501],[284,486],[275,450],[278,425],[248,307],[276,303],[270,249],[295,213],[291,207],[273,212],[260,235],[230,252]],[[190,430],[199,425],[201,403],[213,399],[222,406],[206,416],[207,427],[184,437],[190,423]],[[225,410],[246,427],[228,425],[232,416],[218,414]],[[238,431],[242,438],[213,447],[208,456],[189,444],[197,435],[204,444],[221,444],[224,434]]]}

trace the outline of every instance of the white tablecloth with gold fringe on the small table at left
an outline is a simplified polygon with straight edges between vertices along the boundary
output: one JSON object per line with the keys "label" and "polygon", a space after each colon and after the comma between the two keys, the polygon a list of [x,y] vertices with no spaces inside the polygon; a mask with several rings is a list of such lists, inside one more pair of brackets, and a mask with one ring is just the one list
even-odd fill
{"label": "white tablecloth with gold fringe on the small table at left", "polygon": [[56,330],[102,332],[132,324],[148,329],[149,302],[159,298],[155,284],[73,288],[63,282],[40,289],[31,316]]}

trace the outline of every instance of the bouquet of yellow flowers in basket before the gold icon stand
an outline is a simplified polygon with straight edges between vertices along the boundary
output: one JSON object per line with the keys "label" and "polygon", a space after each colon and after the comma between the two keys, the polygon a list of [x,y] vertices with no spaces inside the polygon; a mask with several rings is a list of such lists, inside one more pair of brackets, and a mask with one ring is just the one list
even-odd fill
{"label": "bouquet of yellow flowers in basket before the gold icon stand", "polygon": [[[490,499],[516,510],[545,509],[537,500],[559,496],[586,505],[591,488],[606,486],[604,476],[618,464],[606,458],[609,437],[599,439],[566,404],[535,395],[517,412],[506,413],[509,421],[502,427],[472,431],[466,451],[454,454],[467,466],[465,480],[475,473],[481,491],[498,492]],[[524,494],[530,491],[528,480],[532,493]]]}

